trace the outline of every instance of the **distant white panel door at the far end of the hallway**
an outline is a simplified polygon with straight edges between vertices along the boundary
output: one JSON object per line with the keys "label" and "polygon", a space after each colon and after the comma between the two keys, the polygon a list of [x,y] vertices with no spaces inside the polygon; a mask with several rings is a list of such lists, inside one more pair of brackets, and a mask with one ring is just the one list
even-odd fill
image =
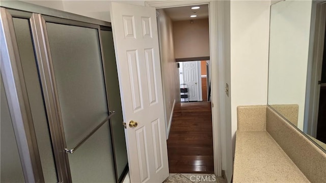
{"label": "distant white panel door at the far end of the hallway", "polygon": [[189,101],[199,101],[198,61],[183,63],[183,79],[188,85]]}

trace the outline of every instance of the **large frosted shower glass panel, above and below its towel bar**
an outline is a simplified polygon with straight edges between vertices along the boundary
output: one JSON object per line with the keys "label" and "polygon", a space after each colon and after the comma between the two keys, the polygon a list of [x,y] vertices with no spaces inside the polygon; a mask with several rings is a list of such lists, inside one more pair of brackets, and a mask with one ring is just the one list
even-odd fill
{"label": "large frosted shower glass panel, above and below its towel bar", "polygon": [[[67,147],[108,115],[98,30],[46,23]],[[74,182],[114,182],[110,125],[69,155]]]}

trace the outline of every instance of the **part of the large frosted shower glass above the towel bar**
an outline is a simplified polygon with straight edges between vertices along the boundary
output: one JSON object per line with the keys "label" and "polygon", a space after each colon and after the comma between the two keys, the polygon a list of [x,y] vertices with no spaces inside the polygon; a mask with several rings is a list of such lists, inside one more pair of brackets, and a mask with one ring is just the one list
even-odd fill
{"label": "part of the large frosted shower glass above the towel bar", "polygon": [[98,31],[46,23],[67,147],[107,117]]}

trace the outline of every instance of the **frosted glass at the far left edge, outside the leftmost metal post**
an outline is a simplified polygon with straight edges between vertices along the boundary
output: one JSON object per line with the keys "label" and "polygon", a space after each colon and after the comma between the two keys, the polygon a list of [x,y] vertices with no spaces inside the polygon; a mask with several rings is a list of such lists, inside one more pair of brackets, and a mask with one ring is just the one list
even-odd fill
{"label": "frosted glass at the far left edge, outside the leftmost metal post", "polygon": [[16,137],[1,77],[1,182],[25,182]]}

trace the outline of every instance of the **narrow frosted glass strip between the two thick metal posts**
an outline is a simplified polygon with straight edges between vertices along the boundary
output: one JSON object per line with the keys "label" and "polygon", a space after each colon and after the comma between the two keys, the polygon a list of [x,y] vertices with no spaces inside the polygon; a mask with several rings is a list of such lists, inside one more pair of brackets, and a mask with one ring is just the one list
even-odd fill
{"label": "narrow frosted glass strip between the two thick metal posts", "polygon": [[34,55],[33,42],[28,19],[13,18],[18,50],[25,78],[25,84],[32,111],[37,145],[41,158],[45,182],[57,182],[55,161],[52,153],[50,133]]}

